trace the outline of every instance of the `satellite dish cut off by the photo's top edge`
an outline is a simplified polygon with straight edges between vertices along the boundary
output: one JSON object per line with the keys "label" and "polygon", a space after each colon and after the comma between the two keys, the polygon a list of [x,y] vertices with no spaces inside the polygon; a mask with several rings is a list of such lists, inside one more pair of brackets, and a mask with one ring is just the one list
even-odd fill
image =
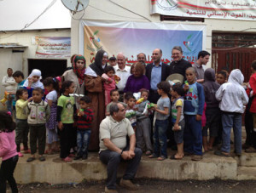
{"label": "satellite dish cut off by the photo's top edge", "polygon": [[89,5],[89,0],[61,0],[61,2],[73,14],[84,10]]}

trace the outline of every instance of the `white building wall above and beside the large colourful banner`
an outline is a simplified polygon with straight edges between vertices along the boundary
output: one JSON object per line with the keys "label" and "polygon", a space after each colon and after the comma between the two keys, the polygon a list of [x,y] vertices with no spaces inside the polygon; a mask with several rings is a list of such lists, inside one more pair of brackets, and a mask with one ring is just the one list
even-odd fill
{"label": "white building wall above and beside the large colourful banner", "polygon": [[[119,6],[115,3],[119,4]],[[79,18],[79,14],[76,16]],[[150,15],[149,0],[90,1],[89,6],[87,9],[85,9],[83,20],[127,20],[136,22],[161,22],[159,14]],[[164,21],[164,23],[180,23],[180,21]],[[205,24],[207,26],[206,48],[210,53],[212,53],[212,31],[242,31],[256,33],[255,21],[205,19],[204,23],[189,21],[183,21],[182,23],[194,25]],[[72,20],[71,27],[71,52],[72,54],[76,54],[79,53],[79,20]],[[212,65],[210,61],[207,64],[207,67],[211,66]]]}

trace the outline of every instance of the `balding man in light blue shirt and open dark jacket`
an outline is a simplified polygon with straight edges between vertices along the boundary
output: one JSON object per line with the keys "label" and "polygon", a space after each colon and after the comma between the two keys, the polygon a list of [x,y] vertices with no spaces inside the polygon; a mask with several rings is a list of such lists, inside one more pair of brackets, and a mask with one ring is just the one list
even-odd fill
{"label": "balding man in light blue shirt and open dark jacket", "polygon": [[146,66],[146,77],[148,77],[150,82],[148,100],[154,104],[156,104],[157,100],[160,99],[156,85],[161,81],[166,81],[166,78],[170,73],[169,65],[161,62],[161,57],[162,50],[160,48],[155,48],[152,54],[153,63]]}

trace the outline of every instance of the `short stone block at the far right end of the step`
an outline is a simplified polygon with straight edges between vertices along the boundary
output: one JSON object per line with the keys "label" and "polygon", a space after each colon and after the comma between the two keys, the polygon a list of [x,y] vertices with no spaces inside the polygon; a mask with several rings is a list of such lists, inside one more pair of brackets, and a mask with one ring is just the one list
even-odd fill
{"label": "short stone block at the far right end of the step", "polygon": [[237,167],[237,180],[256,180],[256,167]]}

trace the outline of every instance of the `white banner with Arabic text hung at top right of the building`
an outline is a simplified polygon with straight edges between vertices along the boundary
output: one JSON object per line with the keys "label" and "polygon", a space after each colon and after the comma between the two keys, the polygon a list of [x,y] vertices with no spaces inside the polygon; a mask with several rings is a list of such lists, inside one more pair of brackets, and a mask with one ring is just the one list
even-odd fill
{"label": "white banner with Arabic text hung at top right of the building", "polygon": [[256,0],[151,0],[151,14],[256,20]]}

